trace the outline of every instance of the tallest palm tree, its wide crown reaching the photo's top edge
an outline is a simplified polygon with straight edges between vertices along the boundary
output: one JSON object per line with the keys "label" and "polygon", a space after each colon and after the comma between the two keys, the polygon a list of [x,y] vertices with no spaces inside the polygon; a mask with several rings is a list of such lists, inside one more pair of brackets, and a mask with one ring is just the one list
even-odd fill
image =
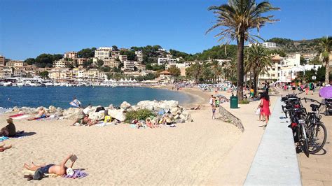
{"label": "tallest palm tree, its wide crown reaching the photo's top edge", "polygon": [[267,1],[256,4],[255,0],[228,0],[228,4],[221,6],[210,6],[208,10],[213,10],[217,17],[214,24],[206,33],[216,28],[221,28],[221,32],[216,34],[220,37],[218,41],[237,41],[237,96],[239,100],[243,99],[243,76],[244,76],[244,41],[251,43],[256,39],[249,34],[251,29],[258,31],[267,22],[272,20],[274,15],[262,16],[270,10],[279,10],[274,8]]}

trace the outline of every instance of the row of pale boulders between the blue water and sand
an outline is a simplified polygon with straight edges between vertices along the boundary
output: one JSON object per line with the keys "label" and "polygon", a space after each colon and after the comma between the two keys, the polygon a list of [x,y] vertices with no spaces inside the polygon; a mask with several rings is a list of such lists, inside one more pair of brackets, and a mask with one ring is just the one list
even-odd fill
{"label": "row of pale boulders between the blue water and sand", "polygon": [[125,115],[128,111],[132,110],[140,110],[140,109],[148,109],[153,111],[156,115],[160,110],[165,110],[165,113],[170,113],[172,115],[173,122],[184,123],[184,122],[192,122],[191,113],[188,113],[186,108],[179,106],[179,101],[139,101],[137,105],[130,105],[127,101],[123,101],[121,103],[120,108],[115,108],[113,105],[110,105],[104,110],[96,111],[97,108],[101,106],[90,106],[87,108],[55,108],[55,106],[38,107],[38,108],[30,108],[30,107],[14,107],[13,112],[16,113],[24,113],[24,114],[37,114],[40,108],[44,108],[48,115],[54,115],[58,117],[60,120],[76,120],[83,118],[85,114],[89,115],[89,118],[92,120],[104,120],[106,115],[115,118],[120,122],[125,121]]}

